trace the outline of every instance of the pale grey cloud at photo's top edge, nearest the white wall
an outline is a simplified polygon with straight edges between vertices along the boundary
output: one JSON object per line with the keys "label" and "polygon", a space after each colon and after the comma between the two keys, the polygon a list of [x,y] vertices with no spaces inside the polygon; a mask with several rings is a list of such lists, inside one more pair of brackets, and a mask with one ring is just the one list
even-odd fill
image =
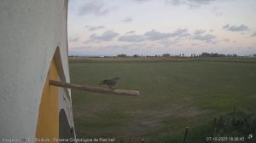
{"label": "pale grey cloud at photo's top edge, nearest the white wall", "polygon": [[104,15],[108,14],[109,9],[104,8],[105,4],[102,0],[93,1],[86,3],[84,6],[79,8],[79,15],[94,14],[94,15]]}

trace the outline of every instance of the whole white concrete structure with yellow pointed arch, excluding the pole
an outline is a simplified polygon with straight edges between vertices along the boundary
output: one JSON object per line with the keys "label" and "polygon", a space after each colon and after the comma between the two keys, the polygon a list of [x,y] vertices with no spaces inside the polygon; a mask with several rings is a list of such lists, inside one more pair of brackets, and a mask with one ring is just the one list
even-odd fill
{"label": "whole white concrete structure with yellow pointed arch, excluding the pole", "polygon": [[48,83],[69,83],[67,0],[0,3],[0,142],[75,137],[70,90]]}

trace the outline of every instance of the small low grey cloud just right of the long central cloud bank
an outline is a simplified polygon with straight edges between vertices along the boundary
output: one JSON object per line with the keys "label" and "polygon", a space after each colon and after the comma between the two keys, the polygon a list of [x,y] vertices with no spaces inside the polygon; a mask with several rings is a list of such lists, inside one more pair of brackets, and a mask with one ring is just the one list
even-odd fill
{"label": "small low grey cloud just right of the long central cloud bank", "polygon": [[196,30],[194,32],[193,39],[204,41],[206,43],[216,43],[215,36],[212,34],[206,34],[205,30]]}

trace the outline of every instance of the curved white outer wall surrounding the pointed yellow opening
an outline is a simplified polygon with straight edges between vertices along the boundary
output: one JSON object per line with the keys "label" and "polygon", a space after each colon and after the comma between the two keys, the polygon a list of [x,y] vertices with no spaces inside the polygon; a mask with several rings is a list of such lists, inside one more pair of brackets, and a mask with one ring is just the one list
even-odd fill
{"label": "curved white outer wall surrounding the pointed yellow opening", "polygon": [[58,46],[66,81],[67,1],[0,2],[0,142],[35,137],[50,61]]}

